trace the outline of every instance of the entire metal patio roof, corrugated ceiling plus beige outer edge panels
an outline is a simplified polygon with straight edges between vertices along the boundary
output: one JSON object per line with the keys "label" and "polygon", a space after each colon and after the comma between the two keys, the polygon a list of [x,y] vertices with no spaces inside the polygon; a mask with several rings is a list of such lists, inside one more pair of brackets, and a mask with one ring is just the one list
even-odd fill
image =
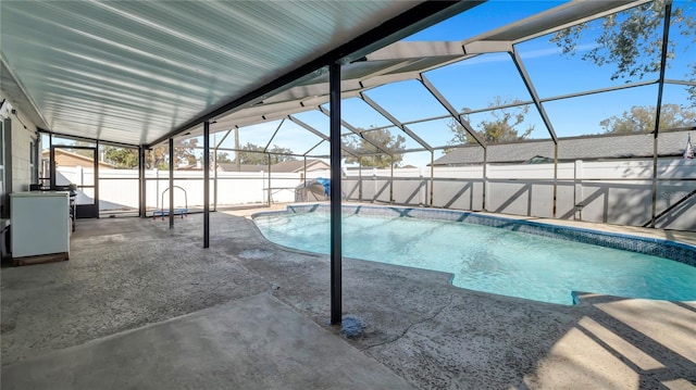
{"label": "entire metal patio roof, corrugated ceiling plus beige outer edge panels", "polygon": [[[153,144],[343,97],[643,1],[574,1],[456,42],[398,39],[480,1],[2,1],[2,90],[50,131]],[[388,45],[390,43],[390,45]],[[387,46],[388,45],[388,46]]]}

